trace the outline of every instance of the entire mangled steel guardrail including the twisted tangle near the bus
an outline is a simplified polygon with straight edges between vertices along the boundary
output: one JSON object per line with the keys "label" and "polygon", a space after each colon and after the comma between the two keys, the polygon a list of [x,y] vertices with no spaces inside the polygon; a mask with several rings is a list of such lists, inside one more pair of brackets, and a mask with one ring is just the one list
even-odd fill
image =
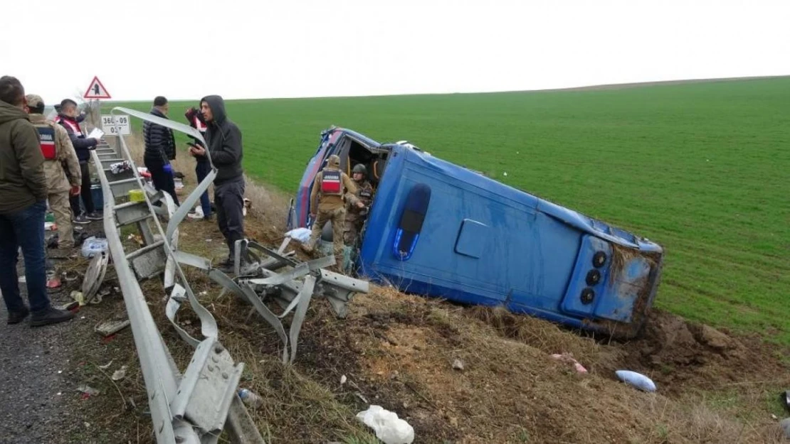
{"label": "entire mangled steel guardrail including the twisted tangle near the bus", "polygon": [[[116,112],[183,132],[207,146],[201,133],[190,126],[120,106],[111,111],[112,114]],[[228,431],[236,442],[263,442],[235,394],[243,363],[235,363],[220,343],[216,320],[195,297],[181,266],[205,271],[209,278],[222,285],[224,291],[229,290],[252,305],[250,314],[258,312],[273,326],[282,341],[285,364],[295,359],[299,331],[310,300],[326,297],[335,314],[344,317],[352,294],[367,293],[368,284],[324,270],[335,263],[333,255],[299,262],[293,257],[294,252],[285,252],[288,238],[276,251],[254,241],[237,241],[235,278],[213,268],[210,259],[179,250],[179,224],[213,182],[216,167],[209,156],[209,174],[182,205],[176,207],[169,194],[156,191],[145,183],[134,165],[126,141],[117,133],[117,146],[112,148],[103,144],[97,147],[92,151],[92,159],[105,196],[104,232],[134,334],[156,441],[212,444],[217,442],[227,420]],[[130,192],[134,190],[143,191],[142,200],[129,199]],[[162,226],[160,217],[167,220],[166,228]],[[127,253],[119,235],[121,226],[136,227],[144,245]],[[241,266],[241,255],[247,259],[244,267]],[[156,327],[138,283],[138,279],[159,274],[164,274],[164,289],[168,293],[167,319],[179,337],[195,349],[183,374]],[[276,315],[266,304],[269,300],[280,304],[284,311]],[[201,339],[194,338],[177,322],[179,309],[185,303],[198,315]],[[290,314],[293,317],[286,334],[282,321]]]}

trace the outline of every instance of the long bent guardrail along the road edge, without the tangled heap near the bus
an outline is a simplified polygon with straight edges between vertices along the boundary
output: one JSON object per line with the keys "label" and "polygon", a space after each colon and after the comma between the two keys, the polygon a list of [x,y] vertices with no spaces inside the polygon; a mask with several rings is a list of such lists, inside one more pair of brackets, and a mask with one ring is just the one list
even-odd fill
{"label": "long bent guardrail along the road edge, without the tangled heap near the bus", "polygon": [[[115,107],[125,114],[143,118],[146,121],[176,127],[190,136],[203,140],[196,130],[176,122],[156,118],[151,114],[142,114],[134,110]],[[186,131],[184,131],[186,129]],[[118,136],[115,149],[101,145],[91,153],[97,168],[104,198],[103,224],[107,236],[107,244],[114,260],[115,270],[119,277],[126,312],[129,315],[137,356],[148,392],[149,410],[153,423],[156,442],[159,444],[214,444],[222,433],[226,422],[231,427],[230,434],[238,442],[263,442],[260,433],[239,397],[235,394],[243,364],[236,364],[224,346],[221,345],[216,321],[213,315],[203,307],[194,296],[186,276],[179,266],[179,258],[190,258],[182,254],[177,256],[179,216],[186,211],[175,207],[170,196],[162,196],[145,186],[145,181],[137,173],[130,151],[122,135]],[[112,174],[107,167],[116,162],[129,162],[133,177],[110,180]],[[210,159],[209,159],[210,163]],[[127,175],[128,176],[128,175]],[[197,202],[201,193],[209,187],[216,177],[216,168],[198,185],[186,202]],[[119,203],[117,200],[127,196],[133,189],[144,189],[144,202]],[[165,211],[153,205],[157,200],[164,201]],[[155,211],[159,210],[159,211]],[[157,212],[164,212],[169,219],[167,230],[160,223]],[[153,222],[149,225],[149,222]],[[119,226],[136,226],[140,230],[145,246],[127,253],[119,234]],[[153,233],[158,233],[156,239]],[[197,256],[195,256],[197,257]],[[203,264],[201,261],[190,261]],[[133,267],[134,266],[134,267]],[[210,263],[209,263],[210,267]],[[137,271],[137,276],[135,275]],[[167,301],[168,317],[175,316],[182,302],[188,302],[190,308],[200,319],[200,331],[203,338],[192,338],[186,331],[174,323],[182,338],[195,347],[193,359],[182,375],[164,343],[162,334],[149,310],[137,277],[150,277],[165,272],[165,282],[173,287],[170,300]]]}

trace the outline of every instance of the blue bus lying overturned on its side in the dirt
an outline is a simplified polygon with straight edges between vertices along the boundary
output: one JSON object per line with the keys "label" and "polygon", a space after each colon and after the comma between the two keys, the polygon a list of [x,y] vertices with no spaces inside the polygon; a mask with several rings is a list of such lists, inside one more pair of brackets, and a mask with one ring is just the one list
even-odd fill
{"label": "blue bus lying overturned on its side in the dirt", "polygon": [[310,226],[310,187],[333,154],[349,175],[367,166],[374,186],[356,246],[360,276],[618,337],[641,330],[659,285],[660,245],[412,144],[336,127],[322,132],[307,163],[292,226]]}

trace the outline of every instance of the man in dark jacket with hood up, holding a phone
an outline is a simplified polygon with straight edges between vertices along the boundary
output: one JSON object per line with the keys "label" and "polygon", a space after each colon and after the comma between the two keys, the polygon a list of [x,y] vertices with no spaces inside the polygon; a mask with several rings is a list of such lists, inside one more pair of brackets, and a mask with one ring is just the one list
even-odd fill
{"label": "man in dark jacket with hood up, holding a phone", "polygon": [[[235,241],[244,239],[244,176],[242,170],[242,132],[225,114],[225,102],[219,95],[201,99],[201,114],[208,128],[205,141],[209,155],[216,166],[214,178],[214,204],[216,222],[228,243],[228,259],[220,268],[228,271],[233,266]],[[191,147],[194,156],[205,155],[205,148]],[[246,254],[241,255],[246,262]]]}

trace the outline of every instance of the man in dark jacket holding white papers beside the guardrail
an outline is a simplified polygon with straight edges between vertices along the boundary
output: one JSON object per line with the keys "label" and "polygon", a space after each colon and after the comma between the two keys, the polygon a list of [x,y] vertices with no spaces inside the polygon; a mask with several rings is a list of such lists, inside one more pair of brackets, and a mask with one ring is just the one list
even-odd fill
{"label": "man in dark jacket holding white papers beside the guardrail", "polygon": [[[79,196],[71,196],[69,198],[71,212],[73,213],[72,222],[86,224],[88,219],[94,221],[102,219],[102,215],[93,206],[91,173],[88,170],[88,162],[91,160],[90,151],[96,149],[96,144],[99,143],[99,140],[85,138],[85,133],[80,129],[80,124],[77,120],[78,115],[77,102],[74,102],[72,99],[63,99],[60,103],[60,113],[56,121],[69,133],[69,139],[74,151],[77,151],[77,159],[80,161],[80,171],[82,173],[82,185]],[[82,198],[82,204],[85,206],[85,214],[80,209],[80,198]]]}

